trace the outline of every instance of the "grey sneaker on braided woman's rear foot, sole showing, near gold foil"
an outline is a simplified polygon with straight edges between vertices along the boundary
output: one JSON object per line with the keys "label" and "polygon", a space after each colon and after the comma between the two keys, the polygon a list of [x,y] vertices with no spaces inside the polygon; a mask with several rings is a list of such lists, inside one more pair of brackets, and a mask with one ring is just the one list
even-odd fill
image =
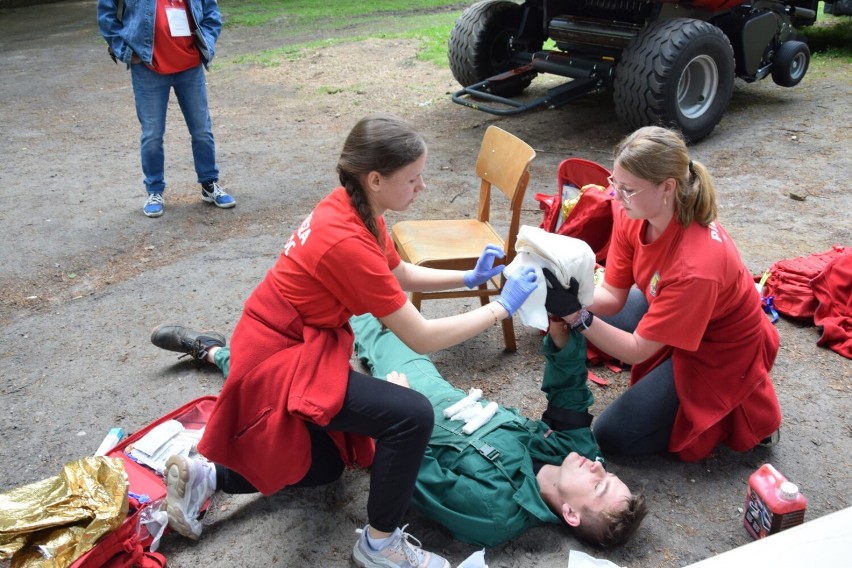
{"label": "grey sneaker on braided woman's rear foot, sole showing, near gold foil", "polygon": [[[169,526],[187,538],[201,538],[201,508],[216,490],[210,473],[216,466],[204,458],[172,456],[166,461],[166,511]],[[214,473],[215,475],[215,473]]]}

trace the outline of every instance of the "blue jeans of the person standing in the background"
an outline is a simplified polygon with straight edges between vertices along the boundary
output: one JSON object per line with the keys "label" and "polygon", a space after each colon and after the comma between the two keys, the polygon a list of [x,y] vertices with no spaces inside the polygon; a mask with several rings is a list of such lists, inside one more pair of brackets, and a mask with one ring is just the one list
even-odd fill
{"label": "blue jeans of the person standing in the background", "polygon": [[216,166],[216,146],[203,65],[161,75],[143,63],[137,63],[130,66],[130,74],[136,97],[136,116],[142,126],[142,173],[148,193],[162,193],[166,188],[163,134],[172,88],[192,137],[192,157],[198,183],[218,180],[219,168]]}

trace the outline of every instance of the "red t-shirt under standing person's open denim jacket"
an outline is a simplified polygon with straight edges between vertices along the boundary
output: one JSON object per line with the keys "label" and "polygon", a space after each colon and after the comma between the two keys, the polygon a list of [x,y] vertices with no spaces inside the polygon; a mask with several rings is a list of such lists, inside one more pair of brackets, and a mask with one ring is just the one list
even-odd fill
{"label": "red t-shirt under standing person's open denim jacket", "polygon": [[[188,36],[172,36],[169,27],[169,17],[166,13],[171,10],[182,10],[189,21]],[[195,22],[189,13],[187,0],[157,0],[157,14],[154,17],[154,53],[151,57],[152,70],[162,75],[180,73],[197,67],[201,63],[201,55],[195,47],[192,33],[195,32]]]}

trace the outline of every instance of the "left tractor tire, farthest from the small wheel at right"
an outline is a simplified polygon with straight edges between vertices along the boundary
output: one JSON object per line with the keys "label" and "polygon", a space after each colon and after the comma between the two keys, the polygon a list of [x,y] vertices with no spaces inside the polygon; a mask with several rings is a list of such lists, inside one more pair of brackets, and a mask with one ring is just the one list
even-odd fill
{"label": "left tractor tire, farthest from the small wheel at right", "polygon": [[[512,40],[518,35],[524,7],[506,0],[485,0],[467,8],[450,33],[450,70],[469,87],[516,67]],[[531,46],[541,49],[543,40]],[[521,94],[533,77],[503,85],[492,92],[503,97]]]}

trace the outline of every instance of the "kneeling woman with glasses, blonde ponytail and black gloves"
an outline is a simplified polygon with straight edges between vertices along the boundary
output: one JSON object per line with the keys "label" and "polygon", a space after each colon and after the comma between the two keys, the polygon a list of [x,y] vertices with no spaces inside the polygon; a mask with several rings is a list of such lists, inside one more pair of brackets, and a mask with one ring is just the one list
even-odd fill
{"label": "kneeling woman with glasses, blonde ponytail and black gloves", "polygon": [[594,302],[580,306],[558,283],[547,298],[549,312],[632,365],[630,388],[593,425],[604,454],[691,461],[723,442],[774,444],[778,333],[716,220],[709,172],[678,134],[646,127],[616,147],[610,185],[622,207]]}

